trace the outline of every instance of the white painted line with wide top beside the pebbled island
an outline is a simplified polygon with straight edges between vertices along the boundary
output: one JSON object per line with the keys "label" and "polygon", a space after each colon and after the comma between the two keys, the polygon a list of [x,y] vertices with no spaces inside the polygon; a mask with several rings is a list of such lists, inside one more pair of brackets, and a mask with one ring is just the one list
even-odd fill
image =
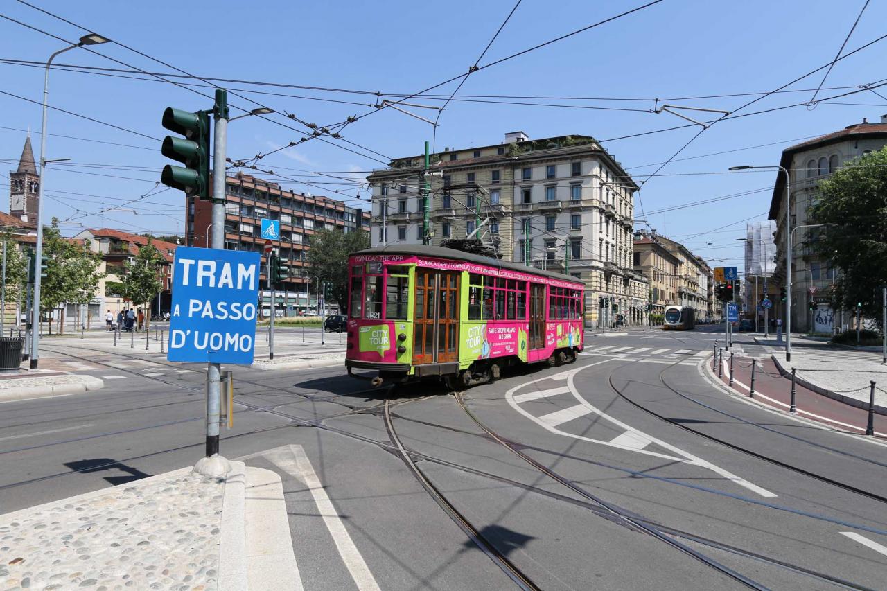
{"label": "white painted line with wide top beside the pebbled island", "polygon": [[[288,449],[287,449],[288,448]],[[355,585],[360,591],[381,591],[379,584],[373,577],[373,573],[361,556],[354,540],[351,540],[348,530],[341,523],[341,516],[336,511],[333,502],[326,495],[324,485],[320,483],[318,475],[314,472],[308,456],[302,445],[287,445],[283,448],[275,448],[269,452],[262,453],[263,457],[274,463],[280,469],[284,470],[290,476],[297,478],[310,490],[314,502],[318,506],[318,512],[323,517],[326,529],[329,530],[333,537],[336,548],[339,550],[339,556],[345,563],[351,578],[354,579]]]}

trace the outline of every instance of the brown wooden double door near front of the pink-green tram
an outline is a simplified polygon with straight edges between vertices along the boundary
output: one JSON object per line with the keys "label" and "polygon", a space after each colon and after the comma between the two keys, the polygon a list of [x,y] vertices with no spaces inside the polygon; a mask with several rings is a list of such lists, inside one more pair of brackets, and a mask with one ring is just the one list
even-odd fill
{"label": "brown wooden double door near front of the pink-green tram", "polygon": [[412,364],[459,360],[459,273],[416,269]]}

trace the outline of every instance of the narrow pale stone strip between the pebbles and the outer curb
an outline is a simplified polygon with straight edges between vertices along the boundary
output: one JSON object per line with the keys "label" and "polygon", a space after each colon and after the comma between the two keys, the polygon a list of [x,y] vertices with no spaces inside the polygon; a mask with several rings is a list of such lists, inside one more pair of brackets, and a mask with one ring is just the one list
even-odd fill
{"label": "narrow pale stone strip between the pebbles and the outer curb", "polygon": [[219,528],[220,591],[242,591],[247,588],[247,536],[244,521],[246,486],[246,464],[232,461],[231,472],[224,482],[222,524]]}

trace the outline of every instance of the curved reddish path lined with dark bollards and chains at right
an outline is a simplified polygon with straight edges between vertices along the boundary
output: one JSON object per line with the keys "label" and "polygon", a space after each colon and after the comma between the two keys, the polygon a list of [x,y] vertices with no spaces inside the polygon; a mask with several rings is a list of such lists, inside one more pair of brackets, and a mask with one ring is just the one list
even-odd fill
{"label": "curved reddish path lined with dark bollards and chains at right", "polygon": [[[795,351],[792,350],[792,358]],[[770,406],[780,411],[789,411],[791,405],[791,381],[785,379],[776,366],[773,359],[752,359],[750,357],[734,358],[734,382],[730,386],[730,355],[724,356],[722,366],[723,377],[718,380],[717,364],[713,359],[707,359],[703,364],[705,371],[711,379],[721,382],[726,388],[733,390],[743,397],[750,397],[759,404]],[[755,367],[755,393],[750,394],[751,388],[751,364],[757,361]],[[714,366],[714,367],[713,367]],[[832,398],[826,398],[819,393],[806,388],[796,382],[795,406],[797,415],[821,422],[831,429],[838,429],[854,435],[862,435],[866,432],[868,420],[867,409],[850,406]],[[875,414],[875,437],[887,439],[887,416]]]}

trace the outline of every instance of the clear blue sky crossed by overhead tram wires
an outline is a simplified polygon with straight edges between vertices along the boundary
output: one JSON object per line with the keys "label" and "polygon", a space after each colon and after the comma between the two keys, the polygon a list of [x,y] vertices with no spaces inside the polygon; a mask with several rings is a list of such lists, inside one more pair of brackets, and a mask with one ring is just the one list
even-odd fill
{"label": "clear blue sky crossed by overhead tram wires", "polygon": [[[254,6],[166,0],[151,3],[85,1],[76,4],[76,8],[69,3],[48,0],[34,0],[31,4],[194,75],[389,93],[420,91],[466,72],[514,6],[511,0],[443,4],[269,0]],[[481,65],[640,4],[644,3],[640,0],[607,3],[524,0]],[[841,3],[824,0],[744,3],[665,0],[599,28],[476,72],[459,92],[462,96],[576,97],[537,102],[640,111],[452,102],[441,117],[437,147],[494,144],[501,141],[506,131],[513,130],[523,130],[531,138],[575,133],[606,140],[684,123],[672,114],[646,112],[653,108],[653,98],[667,98],[671,103],[684,106],[733,111],[755,97],[687,97],[772,91],[799,75],[828,64],[844,42],[863,4],[864,0]],[[0,13],[67,40],[75,40],[83,33],[13,0],[4,3]],[[174,14],[177,15],[176,21],[171,19]],[[883,35],[885,18],[887,7],[884,3],[871,3],[844,51],[852,51]],[[63,46],[57,39],[9,20],[0,20],[0,35],[4,39],[0,51],[3,59],[44,61],[52,51]],[[94,49],[134,67],[169,71],[169,67],[114,44]],[[885,51],[887,40],[837,62],[824,86],[858,86],[887,77],[884,68],[879,66],[884,63]],[[68,51],[57,59],[57,63],[122,67],[82,50]],[[0,63],[0,71],[4,74],[0,90],[39,102],[42,70]],[[740,114],[809,101],[812,89],[820,83],[823,73],[820,71],[789,87],[789,90],[810,91],[776,94],[758,101]],[[450,83],[434,92],[451,92],[455,84]],[[228,86],[364,104],[243,93],[245,97],[279,112],[287,111],[303,121],[319,125],[340,122],[349,115],[373,110],[365,104],[375,100],[373,96],[356,93],[244,83]],[[211,89],[197,90],[212,93]],[[879,92],[887,96],[887,87],[882,91]],[[844,91],[823,90],[818,98],[839,92]],[[255,106],[243,98],[232,96],[230,99],[237,106]],[[411,102],[441,104],[431,98],[414,98]],[[877,121],[881,114],[887,113],[887,100],[871,91],[830,102],[852,105],[823,103],[813,109],[795,106],[718,122],[703,132],[678,158],[772,145],[679,160],[665,167],[661,175],[718,173],[744,163],[776,164],[781,149],[801,138],[841,129],[860,122],[863,117]],[[51,72],[50,104],[150,138],[162,138],[166,135],[160,124],[165,106],[196,110],[208,107],[209,101],[169,83],[54,70]],[[25,138],[21,130],[30,127],[35,153],[38,152],[40,107],[0,94],[0,109],[4,113],[0,122],[0,140],[4,146],[0,158],[4,159],[6,169],[14,169]],[[425,109],[413,110],[425,116],[433,115]],[[232,115],[238,113],[241,111],[232,110]],[[694,118],[704,116],[687,114]],[[281,115],[272,119],[300,127]],[[690,127],[606,141],[603,145],[616,154],[616,159],[635,175],[636,180],[644,180],[644,175],[657,168],[651,164],[668,159],[699,129]],[[50,158],[69,157],[72,163],[90,164],[90,167],[60,166],[47,176],[45,189],[51,198],[45,202],[45,211],[49,216],[72,218],[72,221],[87,226],[109,225],[137,232],[145,229],[161,233],[184,232],[184,199],[180,192],[169,190],[134,204],[122,205],[121,200],[136,199],[149,191],[159,190],[154,189],[154,184],[159,180],[161,167],[168,162],[160,154],[159,141],[58,111],[50,112],[49,131],[51,134],[127,145],[112,146],[51,136]],[[302,136],[301,131],[250,117],[232,123],[229,155],[239,158],[268,152]],[[398,157],[418,154],[422,143],[431,139],[431,127],[386,109],[350,125],[342,136],[385,156]],[[361,152],[355,146],[334,143]],[[377,154],[370,155],[386,160]],[[353,171],[347,176],[356,178],[365,177],[359,171],[383,166],[381,162],[318,141],[270,155],[260,164],[287,176],[316,171]],[[654,212],[720,195],[763,190],[727,201],[646,214],[648,224],[658,232],[684,240],[744,218],[765,218],[773,177],[774,173],[770,171],[653,177],[641,192],[643,210]],[[319,177],[301,178],[310,182],[338,182]],[[334,196],[331,193],[334,189],[346,190],[350,195],[357,193],[352,184],[322,185],[323,188],[283,184],[313,194]],[[8,179],[0,177],[0,185],[3,185],[0,189],[3,194],[8,194]],[[366,197],[368,193],[361,191],[360,194]],[[123,211],[96,214],[101,209],[115,206],[137,209],[138,214]],[[2,208],[8,208],[5,197]],[[641,217],[637,200],[635,214]],[[742,243],[734,239],[744,236],[744,227],[744,223],[733,225],[688,240],[687,246],[706,258],[726,259],[714,264],[742,264]],[[66,226],[67,233],[79,229],[74,225]]]}

